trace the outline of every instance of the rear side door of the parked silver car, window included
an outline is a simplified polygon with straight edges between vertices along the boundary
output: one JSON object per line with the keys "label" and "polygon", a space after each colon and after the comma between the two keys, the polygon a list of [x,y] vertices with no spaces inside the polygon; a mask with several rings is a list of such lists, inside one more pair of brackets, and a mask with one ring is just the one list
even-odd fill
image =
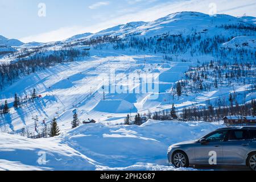
{"label": "rear side door of the parked silver car, window included", "polygon": [[223,144],[224,164],[243,164],[250,150],[247,130],[230,130]]}

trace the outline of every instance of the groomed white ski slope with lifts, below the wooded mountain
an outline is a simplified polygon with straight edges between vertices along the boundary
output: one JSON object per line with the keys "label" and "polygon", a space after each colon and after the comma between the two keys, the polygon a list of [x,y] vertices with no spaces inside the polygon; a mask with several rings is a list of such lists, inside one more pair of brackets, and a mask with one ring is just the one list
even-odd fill
{"label": "groomed white ski slope with lifts, below the wooded mountain", "polygon": [[[125,51],[101,50],[92,51],[92,56],[86,59],[65,63],[47,69],[44,72],[37,72],[21,78],[13,85],[0,92],[0,103],[5,100],[9,105],[13,105],[14,94],[20,97],[31,94],[35,88],[42,98],[34,103],[27,104],[18,110],[13,108],[10,114],[2,115],[0,129],[2,132],[14,131],[18,133],[20,129],[27,129],[34,132],[34,120],[39,117],[38,127],[43,127],[43,119],[46,123],[57,118],[61,132],[65,133],[71,129],[73,110],[77,109],[80,121],[94,119],[97,122],[122,123],[127,114],[134,116],[136,113],[148,113],[151,111],[170,109],[172,103],[177,109],[196,104],[205,105],[210,100],[212,103],[218,97],[226,97],[228,101],[229,93],[234,88],[218,88],[210,92],[202,92],[197,95],[188,94],[179,99],[172,98],[170,93],[172,86],[184,78],[184,72],[189,65],[197,65],[197,57],[193,57],[191,62],[168,62],[162,64],[161,55],[137,55],[133,52],[127,54]],[[184,56],[185,57],[185,56]],[[183,57],[181,57],[182,59]],[[205,62],[212,57],[205,56]],[[146,61],[144,61],[146,60]],[[152,93],[135,93],[141,83],[131,86],[131,93],[105,93],[100,92],[105,85],[101,74],[110,74],[114,70],[116,74],[122,73],[122,77],[127,77],[131,73],[138,76],[138,71],[144,74],[157,74],[159,92],[154,93],[156,98],[150,99]],[[116,81],[116,85],[123,85],[121,81]],[[113,85],[112,85],[113,86]],[[247,93],[247,86],[237,86],[241,95],[241,102],[245,96],[246,101],[250,101],[255,94]]]}

